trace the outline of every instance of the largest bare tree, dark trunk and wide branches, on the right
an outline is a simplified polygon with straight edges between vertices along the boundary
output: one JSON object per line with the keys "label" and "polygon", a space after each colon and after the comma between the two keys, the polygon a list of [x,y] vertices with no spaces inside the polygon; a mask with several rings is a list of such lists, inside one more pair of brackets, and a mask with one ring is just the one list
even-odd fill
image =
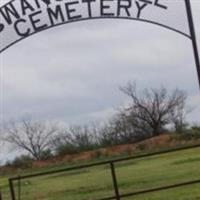
{"label": "largest bare tree, dark trunk and wide branches, on the right", "polygon": [[160,87],[138,93],[136,84],[130,82],[120,89],[132,100],[131,105],[123,109],[122,113],[131,119],[138,130],[157,136],[166,125],[175,121],[182,123],[187,99],[185,92],[175,89],[169,93],[166,88]]}

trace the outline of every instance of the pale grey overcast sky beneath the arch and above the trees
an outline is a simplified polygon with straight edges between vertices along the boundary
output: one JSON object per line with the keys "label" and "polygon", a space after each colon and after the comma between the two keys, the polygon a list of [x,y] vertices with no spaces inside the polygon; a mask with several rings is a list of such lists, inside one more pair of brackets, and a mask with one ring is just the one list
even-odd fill
{"label": "pale grey overcast sky beneath the arch and above the trees", "polygon": [[[200,46],[200,1],[192,6]],[[104,120],[128,100],[119,86],[135,80],[139,88],[185,90],[195,108],[188,120],[200,123],[191,41],[155,25],[95,20],[60,26],[3,52],[0,67],[1,122],[26,114],[73,124]]]}

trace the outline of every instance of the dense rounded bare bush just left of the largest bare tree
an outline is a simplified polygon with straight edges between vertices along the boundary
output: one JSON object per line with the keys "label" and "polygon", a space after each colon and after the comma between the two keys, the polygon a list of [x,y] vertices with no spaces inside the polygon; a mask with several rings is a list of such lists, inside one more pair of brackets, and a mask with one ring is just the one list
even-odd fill
{"label": "dense rounded bare bush just left of the largest bare tree", "polygon": [[141,141],[150,136],[149,127],[133,119],[130,113],[120,110],[99,129],[103,146],[127,144]]}

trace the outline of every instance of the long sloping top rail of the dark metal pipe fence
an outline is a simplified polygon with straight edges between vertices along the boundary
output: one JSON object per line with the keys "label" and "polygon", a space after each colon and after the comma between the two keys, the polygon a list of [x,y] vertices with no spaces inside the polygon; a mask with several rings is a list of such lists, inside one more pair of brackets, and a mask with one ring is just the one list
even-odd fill
{"label": "long sloping top rail of the dark metal pipe fence", "polygon": [[[137,155],[137,156],[129,156],[129,157],[123,157],[123,158],[118,158],[118,159],[111,159],[111,160],[107,160],[107,161],[103,161],[103,162],[96,162],[96,163],[91,163],[91,164],[86,164],[86,165],[78,165],[75,167],[68,167],[68,168],[64,168],[64,169],[60,169],[60,170],[52,170],[52,171],[47,171],[47,172],[29,174],[29,175],[20,176],[20,179],[22,180],[22,179],[32,178],[32,177],[37,177],[37,176],[51,175],[51,174],[56,174],[56,173],[61,173],[61,172],[72,171],[72,170],[79,170],[79,169],[90,168],[90,167],[95,167],[95,166],[107,165],[107,164],[110,164],[111,162],[116,163],[116,162],[122,162],[122,161],[128,161],[128,160],[135,160],[135,159],[146,158],[146,157],[151,157],[151,156],[156,156],[156,155],[162,155],[162,154],[167,154],[167,153],[172,153],[172,152],[177,152],[177,151],[189,150],[189,149],[194,149],[194,148],[200,148],[200,144],[179,147],[179,148],[171,148],[171,149],[164,150],[164,151],[155,151],[152,153],[141,154],[141,155]],[[9,178],[9,180],[12,180],[12,181],[15,181],[18,179],[19,179],[18,176]]]}

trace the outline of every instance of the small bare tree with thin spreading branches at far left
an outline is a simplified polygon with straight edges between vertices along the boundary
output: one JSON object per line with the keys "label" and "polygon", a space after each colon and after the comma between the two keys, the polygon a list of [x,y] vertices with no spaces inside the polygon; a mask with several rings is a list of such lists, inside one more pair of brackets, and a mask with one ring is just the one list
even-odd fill
{"label": "small bare tree with thin spreading branches at far left", "polygon": [[6,125],[4,140],[14,148],[25,150],[35,159],[42,159],[48,150],[53,135],[57,131],[55,124],[23,119],[20,123],[10,122]]}

